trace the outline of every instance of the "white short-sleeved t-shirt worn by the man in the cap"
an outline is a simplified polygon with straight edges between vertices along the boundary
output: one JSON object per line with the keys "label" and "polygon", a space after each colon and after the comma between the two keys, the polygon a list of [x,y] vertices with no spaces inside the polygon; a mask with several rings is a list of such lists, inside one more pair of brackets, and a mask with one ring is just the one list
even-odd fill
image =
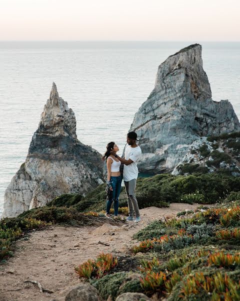
{"label": "white short-sleeved t-shirt worn by the man in the cap", "polygon": [[123,180],[128,182],[132,179],[137,179],[138,176],[138,168],[137,168],[137,162],[139,161],[141,157],[141,148],[140,146],[131,147],[130,145],[127,145],[125,148],[125,160],[132,160],[133,162],[129,165],[124,165],[123,167]]}

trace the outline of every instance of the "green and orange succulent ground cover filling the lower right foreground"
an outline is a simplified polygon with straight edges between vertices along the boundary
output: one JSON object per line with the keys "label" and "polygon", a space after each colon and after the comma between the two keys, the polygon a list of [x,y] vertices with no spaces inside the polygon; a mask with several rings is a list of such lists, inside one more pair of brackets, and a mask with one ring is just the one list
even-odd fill
{"label": "green and orange succulent ground cover filling the lower right foreground", "polygon": [[229,203],[238,198],[231,193],[222,204],[191,217],[152,222],[134,236],[140,243],[132,253],[144,253],[138,274],[122,271],[91,283],[112,300],[122,287],[170,301],[239,300],[240,206]]}

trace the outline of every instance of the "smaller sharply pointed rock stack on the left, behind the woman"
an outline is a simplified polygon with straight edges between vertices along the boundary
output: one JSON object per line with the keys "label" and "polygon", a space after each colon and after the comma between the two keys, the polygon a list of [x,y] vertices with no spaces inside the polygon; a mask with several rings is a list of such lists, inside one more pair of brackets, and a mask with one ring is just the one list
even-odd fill
{"label": "smaller sharply pointed rock stack on the left, behind the woman", "polygon": [[45,205],[64,193],[86,194],[103,183],[101,155],[76,137],[76,120],[52,84],[26,161],[4,194],[3,217]]}

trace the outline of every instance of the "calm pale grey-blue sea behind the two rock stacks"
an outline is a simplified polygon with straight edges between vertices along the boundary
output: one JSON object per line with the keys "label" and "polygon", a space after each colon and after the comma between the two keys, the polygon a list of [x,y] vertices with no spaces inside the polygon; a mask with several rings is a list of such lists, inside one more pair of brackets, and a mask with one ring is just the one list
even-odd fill
{"label": "calm pale grey-blue sea behind the two rock stacks", "polygon": [[[154,87],[158,65],[191,42],[0,42],[0,213],[25,161],[52,81],[76,116],[78,139],[121,154],[134,113]],[[200,43],[212,98],[240,117],[240,43]]]}

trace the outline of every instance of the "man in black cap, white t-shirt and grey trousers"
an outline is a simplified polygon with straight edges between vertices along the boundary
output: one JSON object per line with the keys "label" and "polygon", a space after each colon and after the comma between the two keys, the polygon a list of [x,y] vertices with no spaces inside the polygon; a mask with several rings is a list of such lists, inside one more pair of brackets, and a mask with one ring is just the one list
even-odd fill
{"label": "man in black cap, white t-shirt and grey trousers", "polygon": [[136,144],[137,134],[133,131],[129,132],[126,136],[127,146],[125,148],[124,159],[114,155],[121,163],[124,164],[123,168],[123,180],[125,184],[126,194],[127,194],[127,204],[128,204],[128,214],[126,218],[127,221],[133,221],[133,213],[135,212],[134,222],[140,221],[140,213],[135,197],[136,179],[138,176],[137,162],[141,157],[141,148]]}

